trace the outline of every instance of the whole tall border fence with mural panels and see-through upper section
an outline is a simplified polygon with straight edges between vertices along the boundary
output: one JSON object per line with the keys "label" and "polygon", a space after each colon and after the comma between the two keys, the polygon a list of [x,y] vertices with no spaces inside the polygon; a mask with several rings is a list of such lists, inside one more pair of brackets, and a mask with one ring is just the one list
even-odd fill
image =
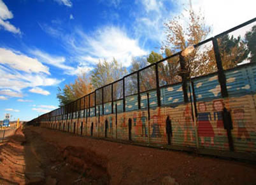
{"label": "whole tall border fence with mural panels and see-through upper section", "polygon": [[[255,27],[253,18],[30,124],[82,136],[209,150],[213,155],[219,155],[216,151],[254,155]],[[248,33],[254,35],[250,51],[245,44]]]}

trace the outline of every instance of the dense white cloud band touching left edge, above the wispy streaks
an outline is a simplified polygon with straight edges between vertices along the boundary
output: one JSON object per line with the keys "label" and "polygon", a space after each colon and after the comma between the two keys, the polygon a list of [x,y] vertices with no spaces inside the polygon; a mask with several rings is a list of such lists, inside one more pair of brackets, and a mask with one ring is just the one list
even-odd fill
{"label": "dense white cloud band touching left edge, above the wispy streaks", "polygon": [[40,63],[35,58],[30,58],[17,51],[10,49],[0,48],[0,64],[8,65],[15,70],[21,70],[27,73],[43,72],[50,74],[49,68]]}

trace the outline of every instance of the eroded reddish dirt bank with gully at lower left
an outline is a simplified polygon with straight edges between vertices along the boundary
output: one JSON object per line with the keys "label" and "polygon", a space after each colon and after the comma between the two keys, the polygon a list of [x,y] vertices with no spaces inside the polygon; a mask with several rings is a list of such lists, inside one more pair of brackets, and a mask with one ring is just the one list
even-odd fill
{"label": "eroded reddish dirt bank with gully at lower left", "polygon": [[60,148],[29,128],[0,146],[0,160],[0,184],[109,184],[101,157],[84,148]]}

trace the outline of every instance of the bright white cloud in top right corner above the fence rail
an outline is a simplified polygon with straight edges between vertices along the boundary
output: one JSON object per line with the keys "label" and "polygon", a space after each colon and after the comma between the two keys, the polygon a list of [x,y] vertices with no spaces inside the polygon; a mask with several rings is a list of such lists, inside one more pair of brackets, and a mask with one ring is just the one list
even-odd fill
{"label": "bright white cloud in top right corner above the fence rail", "polygon": [[243,2],[233,0],[192,1],[192,8],[195,10],[201,8],[206,22],[213,26],[213,35],[220,34],[255,18],[255,6],[256,2],[251,0],[244,0]]}

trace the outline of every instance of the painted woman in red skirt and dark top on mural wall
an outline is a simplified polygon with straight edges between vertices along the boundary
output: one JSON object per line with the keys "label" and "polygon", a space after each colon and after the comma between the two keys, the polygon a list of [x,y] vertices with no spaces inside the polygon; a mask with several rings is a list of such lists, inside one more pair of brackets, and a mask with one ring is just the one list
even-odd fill
{"label": "painted woman in red skirt and dark top on mural wall", "polygon": [[204,137],[211,138],[211,145],[214,144],[213,137],[214,131],[213,127],[211,126],[211,114],[210,112],[206,112],[206,104],[204,102],[198,103],[198,110],[199,113],[197,115],[198,120],[198,136],[201,139],[201,144],[204,145]]}

